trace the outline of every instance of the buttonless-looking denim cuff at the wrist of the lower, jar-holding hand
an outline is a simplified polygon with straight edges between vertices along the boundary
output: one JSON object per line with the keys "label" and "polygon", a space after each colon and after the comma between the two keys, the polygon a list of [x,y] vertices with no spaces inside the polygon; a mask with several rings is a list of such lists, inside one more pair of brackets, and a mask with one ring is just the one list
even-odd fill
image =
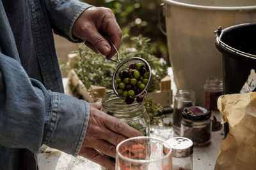
{"label": "buttonless-looking denim cuff at the wrist of the lower, jar-holding hand", "polygon": [[43,143],[77,156],[90,118],[89,104],[65,94],[52,94]]}

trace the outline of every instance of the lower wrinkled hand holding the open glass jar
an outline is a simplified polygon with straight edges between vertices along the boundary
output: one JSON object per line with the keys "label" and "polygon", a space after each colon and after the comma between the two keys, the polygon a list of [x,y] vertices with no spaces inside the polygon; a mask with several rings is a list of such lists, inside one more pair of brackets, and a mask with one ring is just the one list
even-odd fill
{"label": "lower wrinkled hand holding the open glass jar", "polygon": [[100,111],[100,107],[99,103],[90,103],[90,120],[79,155],[108,169],[115,169],[115,162],[101,153],[115,157],[118,143],[143,135],[117,118]]}

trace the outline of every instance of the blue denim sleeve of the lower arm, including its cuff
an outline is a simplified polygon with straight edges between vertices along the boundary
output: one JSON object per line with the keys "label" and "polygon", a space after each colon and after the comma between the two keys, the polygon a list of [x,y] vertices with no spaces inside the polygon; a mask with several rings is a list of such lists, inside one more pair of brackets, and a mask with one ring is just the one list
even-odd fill
{"label": "blue denim sleeve of the lower arm, including its cuff", "polygon": [[77,155],[90,115],[85,101],[46,90],[0,52],[0,145],[37,153],[42,143]]}

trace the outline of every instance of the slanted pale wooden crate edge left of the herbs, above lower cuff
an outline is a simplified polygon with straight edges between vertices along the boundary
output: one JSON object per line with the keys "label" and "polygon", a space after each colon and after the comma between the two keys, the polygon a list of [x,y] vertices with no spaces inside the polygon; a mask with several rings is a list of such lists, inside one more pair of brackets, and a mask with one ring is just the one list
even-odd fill
{"label": "slanted pale wooden crate edge left of the herbs, above lower cuff", "polygon": [[70,70],[70,72],[68,73],[68,78],[70,79],[72,85],[77,86],[77,92],[81,96],[83,96],[83,99],[85,101],[90,103],[94,101],[93,97],[90,96],[90,94],[88,93],[86,87],[84,87],[84,84],[82,83],[82,81],[78,78],[74,69]]}

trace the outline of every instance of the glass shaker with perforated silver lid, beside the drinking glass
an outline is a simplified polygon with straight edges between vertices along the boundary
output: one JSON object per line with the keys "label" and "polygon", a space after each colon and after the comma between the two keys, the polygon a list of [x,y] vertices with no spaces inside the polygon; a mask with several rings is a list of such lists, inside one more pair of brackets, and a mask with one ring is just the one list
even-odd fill
{"label": "glass shaker with perforated silver lid, beside the drinking glass", "polygon": [[193,142],[184,137],[171,138],[167,143],[172,148],[172,170],[193,169]]}

